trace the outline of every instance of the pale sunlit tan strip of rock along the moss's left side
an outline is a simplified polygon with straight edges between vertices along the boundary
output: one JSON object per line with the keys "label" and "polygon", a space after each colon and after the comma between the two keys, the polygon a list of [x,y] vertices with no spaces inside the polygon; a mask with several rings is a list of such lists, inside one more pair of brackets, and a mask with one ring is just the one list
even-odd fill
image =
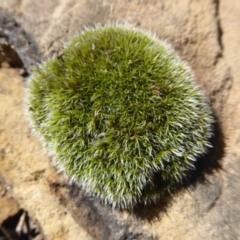
{"label": "pale sunlit tan strip of rock along the moss's left side", "polygon": [[85,231],[59,205],[59,199],[49,188],[47,178],[58,179],[59,176],[52,169],[49,159],[43,155],[38,141],[29,132],[23,115],[23,93],[24,81],[17,69],[2,68],[0,174],[20,207],[27,209],[40,222],[47,239],[75,239],[75,236],[87,239]]}

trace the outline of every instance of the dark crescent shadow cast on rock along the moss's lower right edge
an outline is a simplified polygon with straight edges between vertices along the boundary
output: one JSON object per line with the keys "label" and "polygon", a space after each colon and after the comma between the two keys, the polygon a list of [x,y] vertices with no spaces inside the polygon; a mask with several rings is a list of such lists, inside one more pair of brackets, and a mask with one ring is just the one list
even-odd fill
{"label": "dark crescent shadow cast on rock along the moss's lower right edge", "polygon": [[[212,148],[208,152],[199,157],[195,163],[195,170],[191,171],[189,176],[185,178],[179,186],[171,193],[166,193],[153,203],[137,205],[132,214],[137,218],[154,221],[161,217],[161,213],[167,214],[167,209],[171,206],[174,196],[189,188],[195,188],[198,184],[207,183],[207,175],[213,174],[214,171],[221,169],[221,159],[224,156],[225,142],[221,125],[214,116],[213,135],[209,139]],[[160,180],[156,178],[156,185]]]}

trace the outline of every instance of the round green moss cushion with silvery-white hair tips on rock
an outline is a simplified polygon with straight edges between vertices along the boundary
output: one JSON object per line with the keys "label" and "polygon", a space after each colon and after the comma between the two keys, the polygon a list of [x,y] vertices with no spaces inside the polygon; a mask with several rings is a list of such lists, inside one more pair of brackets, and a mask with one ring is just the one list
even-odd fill
{"label": "round green moss cushion with silvery-white hair tips on rock", "polygon": [[211,111],[188,65],[129,26],[82,32],[35,69],[27,93],[57,166],[113,206],[171,190],[209,145]]}

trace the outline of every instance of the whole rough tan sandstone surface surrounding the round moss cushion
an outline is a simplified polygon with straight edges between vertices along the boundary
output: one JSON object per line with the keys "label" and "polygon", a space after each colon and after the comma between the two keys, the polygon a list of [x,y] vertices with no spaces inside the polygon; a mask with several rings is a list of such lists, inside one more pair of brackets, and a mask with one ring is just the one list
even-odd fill
{"label": "whole rough tan sandstone surface surrounding the round moss cushion", "polygon": [[[23,81],[17,77],[10,85],[10,73],[2,73],[6,80],[0,82],[0,145],[4,153],[0,174],[12,185],[19,203],[38,219],[48,239],[74,239],[74,234],[79,239],[240,238],[240,3],[3,0],[0,7],[4,10],[0,23],[1,16],[17,23],[15,28],[0,25],[4,44],[14,46],[29,73],[34,62],[56,54],[84,26],[118,20],[155,32],[192,66],[216,116],[214,147],[199,159],[196,172],[178,192],[132,212],[112,210],[55,173],[27,129],[21,103]],[[28,39],[28,44],[18,45],[16,38]],[[66,235],[60,237],[63,233]],[[77,234],[85,235],[80,238]]]}

